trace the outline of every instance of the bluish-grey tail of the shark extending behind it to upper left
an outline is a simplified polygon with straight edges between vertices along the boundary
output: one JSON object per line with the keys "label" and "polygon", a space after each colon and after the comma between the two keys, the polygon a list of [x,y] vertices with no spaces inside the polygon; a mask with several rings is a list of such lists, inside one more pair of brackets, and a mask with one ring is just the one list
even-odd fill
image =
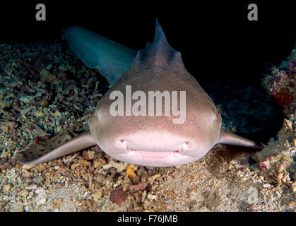
{"label": "bluish-grey tail of the shark extending behind it to upper left", "polygon": [[99,69],[110,85],[129,69],[136,57],[134,49],[84,28],[65,28],[62,38],[86,66]]}

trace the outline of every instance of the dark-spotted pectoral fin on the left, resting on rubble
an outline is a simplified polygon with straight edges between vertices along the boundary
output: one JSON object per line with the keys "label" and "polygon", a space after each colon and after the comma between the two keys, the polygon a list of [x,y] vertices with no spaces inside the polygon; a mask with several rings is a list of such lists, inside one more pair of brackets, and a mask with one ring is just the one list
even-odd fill
{"label": "dark-spotted pectoral fin on the left, resting on rubble", "polygon": [[21,164],[33,165],[74,153],[95,144],[90,132],[82,133],[79,136],[75,136],[73,133],[61,133],[16,153],[16,159]]}

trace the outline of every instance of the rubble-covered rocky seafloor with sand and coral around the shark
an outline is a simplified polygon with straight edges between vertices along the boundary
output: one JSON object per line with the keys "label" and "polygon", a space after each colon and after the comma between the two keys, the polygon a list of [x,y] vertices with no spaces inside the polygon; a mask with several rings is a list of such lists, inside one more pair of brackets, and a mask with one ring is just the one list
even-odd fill
{"label": "rubble-covered rocky seafloor with sand and coral around the shark", "polygon": [[[293,50],[262,81],[266,102],[283,107],[284,119],[261,151],[215,145],[196,162],[148,168],[119,162],[93,146],[20,165],[18,151],[62,131],[86,131],[108,84],[64,42],[1,44],[0,211],[295,211],[295,59]],[[242,121],[227,107],[222,100],[223,126],[236,131]],[[273,113],[262,109],[268,107],[254,115]]]}

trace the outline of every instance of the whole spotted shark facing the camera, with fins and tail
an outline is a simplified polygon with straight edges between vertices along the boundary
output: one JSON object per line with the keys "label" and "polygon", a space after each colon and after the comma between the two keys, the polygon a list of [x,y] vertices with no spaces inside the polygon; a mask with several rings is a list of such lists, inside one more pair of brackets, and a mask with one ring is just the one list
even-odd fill
{"label": "whole spotted shark facing the camera, with fins and tail", "polygon": [[[221,129],[222,118],[211,97],[185,68],[181,53],[167,42],[158,19],[155,37],[138,52],[79,27],[63,31],[71,49],[91,69],[107,78],[110,88],[88,119],[89,131],[76,136],[64,132],[16,153],[21,164],[34,165],[98,145],[116,160],[146,167],[171,167],[199,160],[216,144],[263,148],[247,138]],[[126,88],[148,95],[186,91],[186,120],[172,122],[172,115],[110,114],[110,95]],[[136,102],[136,100],[131,100]],[[162,109],[164,109],[162,102]],[[125,109],[126,111],[126,109]]]}

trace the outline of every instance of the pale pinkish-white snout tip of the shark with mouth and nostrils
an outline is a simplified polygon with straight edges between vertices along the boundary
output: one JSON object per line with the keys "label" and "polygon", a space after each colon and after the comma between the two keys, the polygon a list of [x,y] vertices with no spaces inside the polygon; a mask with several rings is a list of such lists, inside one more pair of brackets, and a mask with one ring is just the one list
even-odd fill
{"label": "pale pinkish-white snout tip of the shark with mouth and nostrils", "polygon": [[136,131],[110,136],[100,146],[108,155],[135,165],[169,167],[196,160],[196,142],[166,131]]}

